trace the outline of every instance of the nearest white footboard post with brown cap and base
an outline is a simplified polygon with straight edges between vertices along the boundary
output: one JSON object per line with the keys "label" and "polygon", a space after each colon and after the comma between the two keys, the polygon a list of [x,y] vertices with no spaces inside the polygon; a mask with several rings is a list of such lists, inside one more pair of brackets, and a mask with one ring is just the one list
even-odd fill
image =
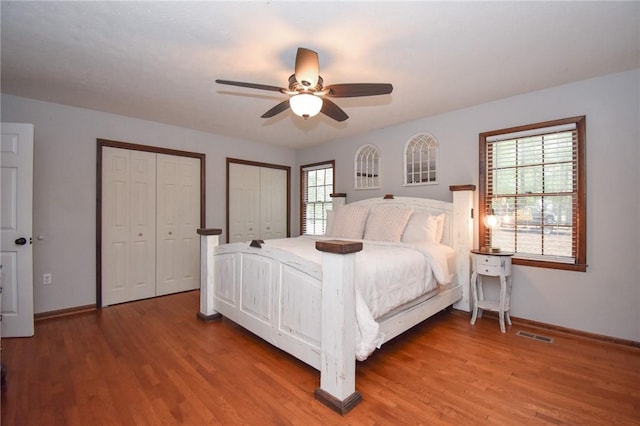
{"label": "nearest white footboard post with brown cap and base", "polygon": [[361,400],[356,391],[355,263],[362,243],[317,241],[322,253],[320,387],[315,397],[346,414]]}

